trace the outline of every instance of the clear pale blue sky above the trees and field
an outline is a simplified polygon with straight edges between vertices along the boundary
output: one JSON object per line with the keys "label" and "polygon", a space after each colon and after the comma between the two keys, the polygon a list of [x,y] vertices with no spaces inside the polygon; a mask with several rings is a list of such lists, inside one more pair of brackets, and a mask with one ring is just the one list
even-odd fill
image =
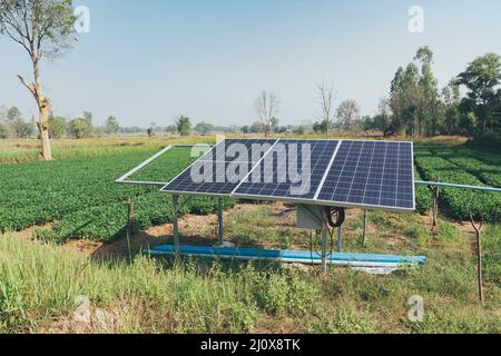
{"label": "clear pale blue sky above the trees and field", "polygon": [[[110,115],[122,126],[160,126],[180,115],[245,125],[263,89],[281,101],[282,123],[318,113],[315,83],[332,81],[337,103],[355,99],[374,113],[399,66],[420,46],[435,52],[444,86],[474,57],[501,53],[501,1],[80,0],[91,32],[42,67],[58,115]],[[424,9],[424,33],[410,33],[407,10]],[[30,116],[35,101],[16,75],[31,73],[22,49],[0,39],[0,105]]]}

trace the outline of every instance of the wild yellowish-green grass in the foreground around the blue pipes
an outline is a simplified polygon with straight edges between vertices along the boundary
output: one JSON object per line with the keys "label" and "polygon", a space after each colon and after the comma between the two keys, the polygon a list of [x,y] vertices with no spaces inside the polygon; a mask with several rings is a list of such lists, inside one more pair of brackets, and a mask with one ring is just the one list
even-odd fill
{"label": "wild yellowish-green grass in the foreground around the blue pipes", "polygon": [[[281,244],[283,236],[259,237],[263,226],[248,225],[273,221],[268,206],[258,207],[248,219],[240,215],[230,217],[232,229],[246,228],[255,244]],[[482,308],[477,300],[474,254],[455,226],[441,221],[442,235],[433,238],[426,228],[415,233],[422,226],[419,217],[377,212],[370,218],[381,234],[369,236],[367,249],[423,254],[429,257],[426,265],[392,276],[333,268],[323,278],[317,268],[277,264],[140,255],[131,264],[96,263],[62,247],[0,236],[0,332],[501,332],[499,227],[489,226],[484,235],[487,306]],[[407,228],[401,230],[403,226]],[[352,228],[346,228],[346,249],[364,251]],[[287,234],[294,240],[295,231]],[[389,243],[392,236],[401,237],[399,246]],[[76,323],[73,301],[80,295],[89,297],[94,312],[105,310],[112,322]],[[420,324],[406,318],[406,303],[413,295],[425,300],[425,319]]]}

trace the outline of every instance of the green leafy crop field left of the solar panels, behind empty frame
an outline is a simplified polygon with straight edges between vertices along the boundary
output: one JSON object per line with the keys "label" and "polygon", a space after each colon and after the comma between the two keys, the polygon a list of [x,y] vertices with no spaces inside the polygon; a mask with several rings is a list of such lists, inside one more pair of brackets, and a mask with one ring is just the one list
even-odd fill
{"label": "green leafy crop field left of the solar panels, behind empty frame", "polygon": [[[159,194],[155,187],[115,182],[156,151],[127,148],[111,154],[108,150],[98,157],[0,165],[0,230],[22,230],[53,222],[53,228],[40,231],[39,237],[56,241],[110,240],[126,226],[129,197],[136,206],[137,228],[168,222],[168,195]],[[176,148],[131,178],[167,182],[191,161],[189,149]],[[208,214],[216,207],[213,198],[194,198],[184,205],[181,212]]]}

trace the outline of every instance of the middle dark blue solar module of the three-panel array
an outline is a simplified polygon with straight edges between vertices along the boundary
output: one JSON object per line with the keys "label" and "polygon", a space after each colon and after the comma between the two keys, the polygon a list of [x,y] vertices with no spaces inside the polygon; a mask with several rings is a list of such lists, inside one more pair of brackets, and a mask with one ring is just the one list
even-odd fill
{"label": "middle dark blue solar module of the three-panel array", "polygon": [[313,199],[337,144],[334,140],[279,140],[234,196]]}

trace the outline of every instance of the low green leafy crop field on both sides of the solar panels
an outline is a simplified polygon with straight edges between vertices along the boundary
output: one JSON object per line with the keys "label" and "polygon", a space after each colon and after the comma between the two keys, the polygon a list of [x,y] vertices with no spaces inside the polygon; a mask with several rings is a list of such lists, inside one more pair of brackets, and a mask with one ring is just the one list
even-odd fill
{"label": "low green leafy crop field on both sides of the solar panels", "polygon": [[[169,196],[159,194],[156,187],[114,182],[158,151],[160,146],[156,144],[153,147],[72,147],[72,156],[48,164],[0,165],[0,230],[22,230],[53,222],[53,228],[40,233],[40,237],[58,241],[70,238],[110,240],[122,233],[129,197],[136,206],[138,228],[168,222]],[[493,152],[420,145],[415,154],[416,179],[501,187],[497,185],[501,180],[501,168],[495,164],[499,158]],[[23,151],[18,155],[24,157]],[[130,179],[168,182],[191,161],[188,148],[176,148]],[[431,208],[432,196],[426,187],[416,188],[416,202],[420,212]],[[227,201],[227,206],[232,204]],[[501,208],[501,195],[445,188],[441,205],[452,218],[465,220],[472,211],[477,218],[491,221],[497,208]],[[215,208],[214,199],[193,198],[181,212],[207,214]]]}

